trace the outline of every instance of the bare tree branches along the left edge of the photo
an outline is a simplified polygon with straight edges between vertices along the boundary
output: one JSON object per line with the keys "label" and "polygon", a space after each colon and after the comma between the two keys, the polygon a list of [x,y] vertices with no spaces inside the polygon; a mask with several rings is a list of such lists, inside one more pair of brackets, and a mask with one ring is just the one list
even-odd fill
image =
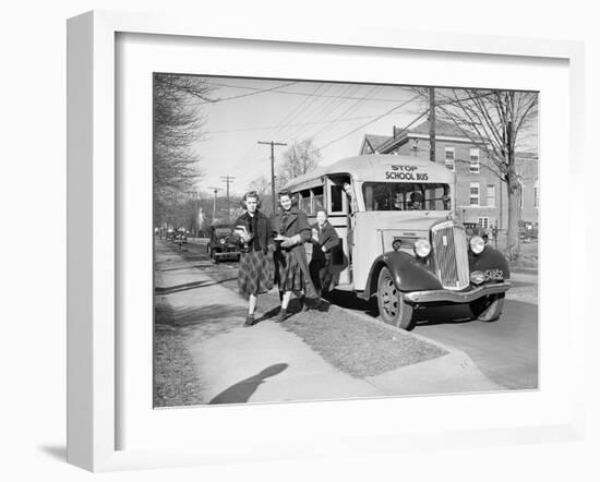
{"label": "bare tree branches along the left edge of the photo", "polygon": [[202,104],[213,101],[213,87],[190,75],[154,75],[154,200],[163,217],[177,193],[190,191],[201,176],[192,145],[202,138]]}

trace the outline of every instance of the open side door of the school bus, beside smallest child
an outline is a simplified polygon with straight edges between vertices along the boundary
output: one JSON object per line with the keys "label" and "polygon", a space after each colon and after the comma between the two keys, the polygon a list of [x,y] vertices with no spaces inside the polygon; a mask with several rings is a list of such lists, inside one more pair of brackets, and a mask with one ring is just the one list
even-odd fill
{"label": "open side door of the school bus, beside smallest child", "polygon": [[341,182],[326,178],[325,191],[327,193],[327,217],[329,224],[335,228],[339,237],[339,244],[334,249],[332,256],[334,284],[343,288],[344,285],[350,285],[352,282],[349,253],[350,244],[348,242],[348,236],[350,234],[349,203]]}

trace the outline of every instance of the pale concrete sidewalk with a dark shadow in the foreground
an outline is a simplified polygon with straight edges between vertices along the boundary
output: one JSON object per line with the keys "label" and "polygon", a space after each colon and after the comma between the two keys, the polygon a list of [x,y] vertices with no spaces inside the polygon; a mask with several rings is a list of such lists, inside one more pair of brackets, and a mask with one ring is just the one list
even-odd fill
{"label": "pale concrete sidewalk with a dark shadow in the foreground", "polygon": [[[271,318],[252,328],[243,328],[247,304],[241,297],[203,273],[197,264],[187,262],[172,250],[157,248],[156,292],[172,309],[172,326],[185,330],[183,342],[197,372],[200,403],[323,400],[502,388],[480,373],[466,354],[446,347],[449,354],[434,360],[376,376],[351,376]],[[236,276],[232,269],[231,278]],[[264,314],[257,311],[256,317]],[[323,316],[328,314],[323,313]]]}

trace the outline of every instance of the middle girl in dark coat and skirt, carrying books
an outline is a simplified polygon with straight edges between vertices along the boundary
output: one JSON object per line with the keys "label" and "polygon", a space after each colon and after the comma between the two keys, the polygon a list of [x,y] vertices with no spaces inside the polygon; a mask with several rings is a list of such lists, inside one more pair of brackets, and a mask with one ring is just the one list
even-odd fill
{"label": "middle girl in dark coat and skirt, carrying books", "polygon": [[[293,206],[289,192],[279,193],[281,209],[273,220],[277,249],[274,254],[275,281],[279,287],[281,309],[277,322],[287,316],[287,309],[295,292],[305,303],[307,298],[316,299],[316,290],[311,280],[304,243],[310,242],[312,230],[307,215]],[[305,306],[305,304],[304,304]]]}

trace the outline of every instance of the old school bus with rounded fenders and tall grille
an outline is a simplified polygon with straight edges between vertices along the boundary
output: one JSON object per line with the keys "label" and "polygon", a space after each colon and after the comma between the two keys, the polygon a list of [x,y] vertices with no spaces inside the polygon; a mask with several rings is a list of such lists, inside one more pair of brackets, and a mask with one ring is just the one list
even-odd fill
{"label": "old school bus with rounded fenders and tall grille", "polygon": [[411,329],[417,306],[441,303],[469,303],[481,321],[500,317],[508,264],[481,237],[467,239],[454,214],[455,174],[445,166],[395,155],[351,157],[286,189],[310,222],[325,209],[339,234],[336,289],[364,300],[376,296],[386,323]]}

